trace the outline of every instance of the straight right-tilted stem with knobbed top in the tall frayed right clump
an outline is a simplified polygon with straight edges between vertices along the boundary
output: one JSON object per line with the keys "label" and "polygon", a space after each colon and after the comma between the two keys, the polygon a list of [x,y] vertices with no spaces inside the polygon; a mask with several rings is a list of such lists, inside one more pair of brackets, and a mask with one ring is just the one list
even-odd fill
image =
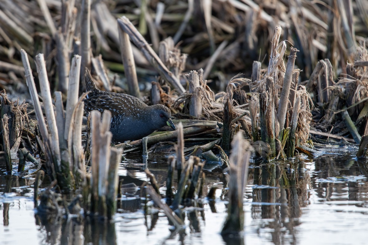
{"label": "straight right-tilted stem with knobbed top in the tall frayed right clump", "polygon": [[287,67],[284,76],[284,82],[281,90],[279,108],[277,110],[277,120],[280,124],[280,132],[278,138],[282,137],[282,131],[285,127],[285,120],[286,120],[286,112],[287,106],[289,105],[289,94],[290,94],[290,87],[291,87],[291,80],[293,78],[293,71],[294,71],[294,64],[296,60],[296,53],[299,50],[297,48],[291,47],[290,55],[287,60]]}

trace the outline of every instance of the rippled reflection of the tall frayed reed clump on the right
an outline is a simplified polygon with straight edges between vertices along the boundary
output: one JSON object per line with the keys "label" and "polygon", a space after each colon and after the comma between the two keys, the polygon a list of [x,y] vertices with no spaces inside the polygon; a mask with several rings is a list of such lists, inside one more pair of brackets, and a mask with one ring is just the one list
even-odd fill
{"label": "rippled reflection of the tall frayed reed clump on the right", "polygon": [[265,220],[262,228],[269,228],[274,244],[288,239],[297,244],[294,227],[300,224],[301,209],[308,205],[310,195],[305,163],[262,165],[254,168],[252,175],[252,218]]}

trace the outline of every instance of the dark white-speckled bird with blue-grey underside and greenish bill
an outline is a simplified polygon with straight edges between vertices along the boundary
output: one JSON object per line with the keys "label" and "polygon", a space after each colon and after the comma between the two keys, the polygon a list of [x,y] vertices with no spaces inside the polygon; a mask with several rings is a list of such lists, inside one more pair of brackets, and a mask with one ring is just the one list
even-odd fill
{"label": "dark white-speckled bird with blue-grey underside and greenish bill", "polygon": [[114,93],[98,89],[88,68],[85,71],[87,96],[85,111],[108,110],[112,114],[110,131],[113,141],[139,140],[167,125],[176,127],[171,120],[170,109],[164,105],[147,105],[129,94]]}

